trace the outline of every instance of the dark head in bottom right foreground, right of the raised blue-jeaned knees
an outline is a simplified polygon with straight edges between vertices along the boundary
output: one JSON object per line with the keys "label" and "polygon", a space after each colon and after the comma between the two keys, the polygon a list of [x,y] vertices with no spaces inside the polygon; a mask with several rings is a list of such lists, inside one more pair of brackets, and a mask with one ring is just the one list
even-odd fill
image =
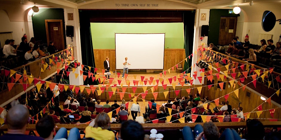
{"label": "dark head in bottom right foreground, right of the raised blue-jeaned knees", "polygon": [[[265,136],[264,126],[257,119],[247,119],[246,122],[246,139],[247,140],[263,140]],[[245,140],[245,139],[242,139]]]}

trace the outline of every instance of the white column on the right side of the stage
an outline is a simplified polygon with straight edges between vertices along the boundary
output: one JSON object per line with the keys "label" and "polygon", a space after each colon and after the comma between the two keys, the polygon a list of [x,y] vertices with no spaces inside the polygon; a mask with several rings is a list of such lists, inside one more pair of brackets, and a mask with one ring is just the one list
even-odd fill
{"label": "white column on the right side of the stage", "polygon": [[[206,20],[201,21],[201,14],[206,13]],[[200,51],[197,52],[197,49],[201,46],[202,43],[205,43],[207,45],[208,37],[205,36],[204,40],[201,41],[201,26],[202,25],[209,25],[209,17],[210,17],[210,9],[197,9],[196,15],[195,15],[195,23],[194,23],[194,40],[193,40],[193,58],[192,58],[192,71],[191,76],[194,74],[194,71],[198,71],[197,77],[200,77],[201,71],[199,71],[201,68],[196,66],[197,60],[200,58]],[[197,55],[195,53],[197,52]],[[194,65],[195,64],[195,65]],[[194,79],[194,78],[193,78]],[[204,82],[204,78],[202,78],[202,84]],[[193,81],[194,85],[201,85],[199,80],[196,78],[195,81]]]}

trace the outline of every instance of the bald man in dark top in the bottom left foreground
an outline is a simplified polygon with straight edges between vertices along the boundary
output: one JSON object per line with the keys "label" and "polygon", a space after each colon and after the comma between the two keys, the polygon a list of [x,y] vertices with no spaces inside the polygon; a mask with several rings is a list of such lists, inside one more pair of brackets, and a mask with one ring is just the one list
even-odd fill
{"label": "bald man in dark top in the bottom left foreground", "polygon": [[25,130],[29,122],[30,117],[27,107],[24,105],[15,105],[7,113],[5,124],[8,126],[8,131],[0,137],[0,140],[44,140],[40,137],[25,135]]}

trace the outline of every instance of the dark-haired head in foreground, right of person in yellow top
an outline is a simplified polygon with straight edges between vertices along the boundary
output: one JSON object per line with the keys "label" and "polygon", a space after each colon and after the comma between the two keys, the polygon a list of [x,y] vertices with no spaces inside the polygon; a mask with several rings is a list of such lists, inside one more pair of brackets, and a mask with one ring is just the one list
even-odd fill
{"label": "dark-haired head in foreground, right of person in yellow top", "polygon": [[122,123],[119,136],[122,140],[143,140],[144,130],[141,124],[129,120]]}

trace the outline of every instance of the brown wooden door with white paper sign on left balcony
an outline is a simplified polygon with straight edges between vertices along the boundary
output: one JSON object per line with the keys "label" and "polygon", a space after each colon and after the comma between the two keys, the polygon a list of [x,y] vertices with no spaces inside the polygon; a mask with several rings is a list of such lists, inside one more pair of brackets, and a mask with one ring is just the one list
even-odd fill
{"label": "brown wooden door with white paper sign on left balcony", "polygon": [[54,42],[58,50],[65,49],[62,20],[45,20],[47,43]]}

